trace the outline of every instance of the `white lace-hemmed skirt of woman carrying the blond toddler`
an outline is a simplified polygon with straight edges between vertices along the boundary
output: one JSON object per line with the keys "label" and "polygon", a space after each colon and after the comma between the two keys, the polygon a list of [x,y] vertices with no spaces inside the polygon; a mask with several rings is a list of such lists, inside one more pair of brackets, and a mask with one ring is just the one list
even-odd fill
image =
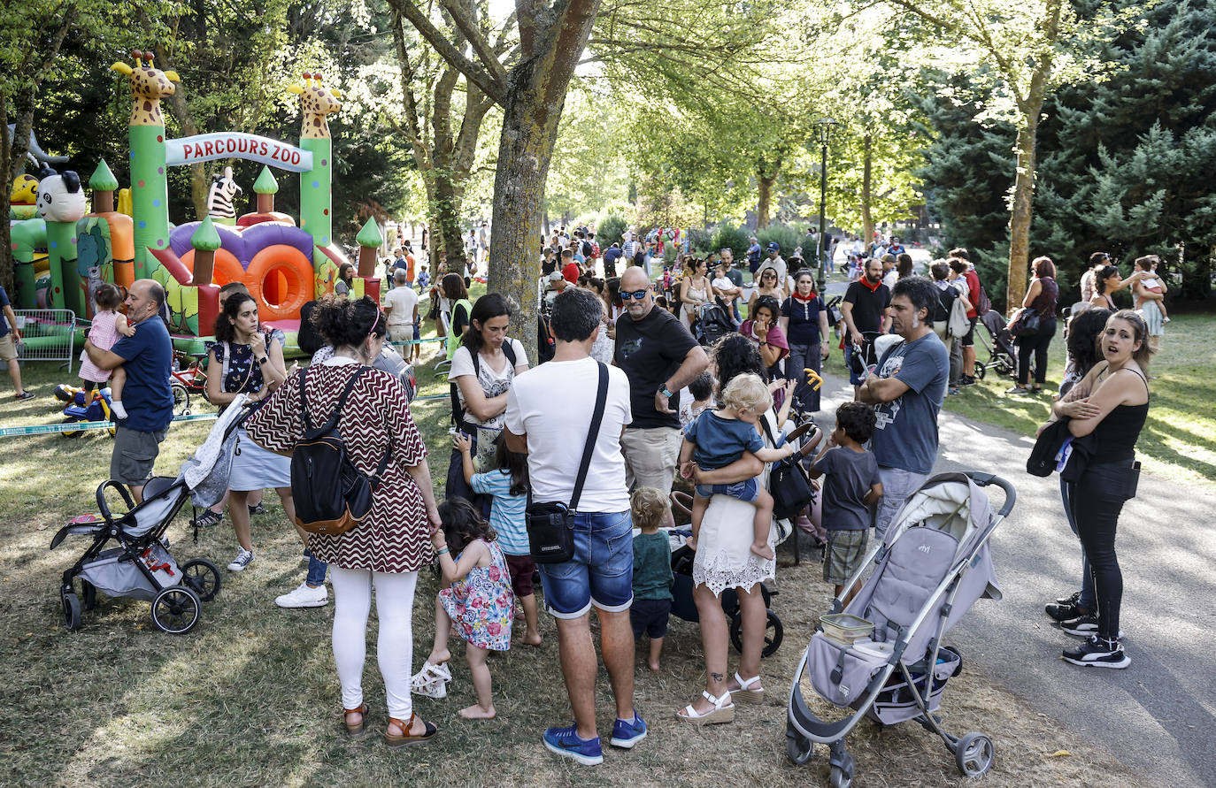
{"label": "white lace-hemmed skirt of woman carrying the blond toddler", "polygon": [[[765,474],[767,475],[767,474]],[[705,511],[692,563],[692,581],[705,584],[714,596],[726,589],[747,591],[776,576],[777,562],[751,552],[755,507],[726,495],[715,495]],[[777,548],[777,528],[769,529],[769,547]]]}

